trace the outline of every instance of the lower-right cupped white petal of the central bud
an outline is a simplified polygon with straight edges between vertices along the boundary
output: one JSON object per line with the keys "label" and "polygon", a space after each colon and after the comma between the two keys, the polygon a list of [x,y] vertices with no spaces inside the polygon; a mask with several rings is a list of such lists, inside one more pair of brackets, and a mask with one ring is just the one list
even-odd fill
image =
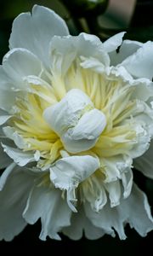
{"label": "lower-right cupped white petal of the central bud", "polygon": [[105,114],[98,109],[84,113],[74,128],[68,129],[61,137],[67,151],[78,153],[93,148],[105,129]]}

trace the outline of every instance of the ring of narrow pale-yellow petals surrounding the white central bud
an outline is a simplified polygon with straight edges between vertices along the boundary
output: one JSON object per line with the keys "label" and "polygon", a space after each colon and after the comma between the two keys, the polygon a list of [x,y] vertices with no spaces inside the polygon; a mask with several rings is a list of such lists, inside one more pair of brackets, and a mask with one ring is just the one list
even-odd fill
{"label": "ring of narrow pale-yellow petals surrounding the white central bud", "polygon": [[[24,151],[40,151],[38,167],[47,168],[62,157],[64,144],[45,121],[43,113],[73,89],[82,90],[93,102],[94,108],[105,114],[106,119],[105,130],[99,135],[94,147],[77,155],[97,155],[101,163],[100,172],[105,173],[105,159],[127,154],[133,148],[137,136],[133,113],[138,103],[133,97],[134,86],[123,83],[121,79],[113,80],[83,69],[77,64],[71,66],[65,77],[49,75],[49,83],[36,79],[37,84],[31,80],[26,95],[16,99],[14,118],[10,125],[23,138]],[[82,114],[92,108],[90,105],[85,106]]]}

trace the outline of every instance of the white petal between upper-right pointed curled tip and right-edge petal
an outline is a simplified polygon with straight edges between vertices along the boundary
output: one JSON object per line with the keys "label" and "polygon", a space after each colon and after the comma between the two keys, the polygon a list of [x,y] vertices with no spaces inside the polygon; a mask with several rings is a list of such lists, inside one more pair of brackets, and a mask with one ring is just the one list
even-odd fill
{"label": "white petal between upper-right pointed curled tip and right-edge petal", "polygon": [[117,64],[124,61],[129,55],[133,55],[143,44],[137,41],[124,40],[121,47],[116,51],[110,53],[111,65],[116,66]]}

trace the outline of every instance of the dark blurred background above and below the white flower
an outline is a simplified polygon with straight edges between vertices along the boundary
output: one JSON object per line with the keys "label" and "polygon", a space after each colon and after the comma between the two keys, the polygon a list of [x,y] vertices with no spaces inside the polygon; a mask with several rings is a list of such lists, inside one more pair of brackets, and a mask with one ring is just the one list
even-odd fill
{"label": "dark blurred background above and below the white flower", "polygon": [[[21,12],[31,11],[34,4],[40,4],[62,16],[67,22],[72,35],[79,32],[94,33],[102,41],[116,32],[126,31],[126,38],[146,42],[153,41],[153,1],[147,0],[5,0],[0,3],[0,61],[8,51],[8,38],[14,18]],[[139,188],[148,195],[153,206],[153,181],[134,170],[134,179]],[[133,209],[134,210],[134,209]],[[104,236],[97,241],[88,241],[84,237],[80,241],[71,241],[62,236],[62,241],[39,241],[40,223],[27,226],[20,236],[11,242],[0,242],[0,255],[7,253],[32,253],[39,255],[64,254],[76,255],[138,255],[148,252],[152,233],[140,237],[127,226],[127,240],[118,237]],[[22,249],[20,249],[22,248]],[[2,253],[5,252],[5,253]]]}

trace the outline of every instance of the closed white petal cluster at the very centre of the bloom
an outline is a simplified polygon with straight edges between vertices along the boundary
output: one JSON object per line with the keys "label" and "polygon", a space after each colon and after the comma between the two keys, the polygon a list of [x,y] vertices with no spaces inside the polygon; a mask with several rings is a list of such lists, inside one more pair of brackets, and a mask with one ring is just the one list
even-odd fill
{"label": "closed white petal cluster at the very centre of the bloom", "polygon": [[93,148],[106,125],[105,114],[78,89],[68,91],[60,102],[46,108],[43,117],[73,154]]}

